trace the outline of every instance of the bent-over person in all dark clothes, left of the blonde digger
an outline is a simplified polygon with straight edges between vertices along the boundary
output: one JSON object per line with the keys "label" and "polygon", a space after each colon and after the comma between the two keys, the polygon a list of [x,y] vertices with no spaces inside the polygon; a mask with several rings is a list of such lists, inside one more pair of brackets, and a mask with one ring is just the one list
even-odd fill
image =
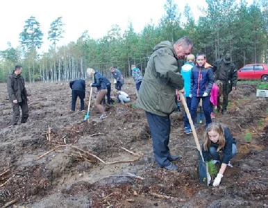
{"label": "bent-over person in all dark clothes, left of the blonde digger", "polygon": [[69,86],[72,89],[72,111],[76,109],[76,99],[77,97],[80,98],[81,107],[80,110],[84,110],[85,103],[85,80],[83,79],[76,79],[69,83]]}

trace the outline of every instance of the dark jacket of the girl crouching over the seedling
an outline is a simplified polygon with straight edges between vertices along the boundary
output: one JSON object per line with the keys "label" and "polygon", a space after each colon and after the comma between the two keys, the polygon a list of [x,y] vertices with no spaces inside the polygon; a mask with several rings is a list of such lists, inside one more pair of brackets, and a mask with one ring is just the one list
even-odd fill
{"label": "dark jacket of the girl crouching over the seedling", "polygon": [[[225,145],[224,148],[221,149],[223,153],[222,163],[228,164],[228,162],[232,158],[233,144],[236,144],[236,141],[235,138],[233,138],[233,135],[231,134],[228,128],[224,128],[224,138],[225,138]],[[219,144],[211,142],[210,146],[215,147],[217,149],[219,147]],[[203,146],[202,146],[202,153],[205,162],[208,162],[209,153],[204,149]]]}

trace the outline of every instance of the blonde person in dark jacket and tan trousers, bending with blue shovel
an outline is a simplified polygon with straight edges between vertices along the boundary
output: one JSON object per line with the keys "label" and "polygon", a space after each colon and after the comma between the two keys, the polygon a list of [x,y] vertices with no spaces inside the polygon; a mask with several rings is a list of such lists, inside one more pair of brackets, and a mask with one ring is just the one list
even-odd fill
{"label": "blonde person in dark jacket and tan trousers, bending with blue shovel", "polygon": [[90,77],[94,77],[94,83],[91,83],[90,86],[97,87],[98,89],[98,94],[97,94],[97,98],[95,101],[95,105],[97,106],[98,110],[101,112],[100,119],[105,119],[107,117],[107,114],[104,110],[104,107],[101,105],[101,101],[103,101],[105,96],[108,95],[107,103],[110,104],[110,81],[101,73],[91,68],[87,69],[87,75]]}

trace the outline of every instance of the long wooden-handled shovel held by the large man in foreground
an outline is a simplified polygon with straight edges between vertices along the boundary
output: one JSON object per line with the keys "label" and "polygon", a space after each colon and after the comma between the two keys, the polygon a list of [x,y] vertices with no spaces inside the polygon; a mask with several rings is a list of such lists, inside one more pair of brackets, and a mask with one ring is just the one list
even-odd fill
{"label": "long wooden-handled shovel held by the large man in foreground", "polygon": [[184,95],[181,93],[181,101],[183,102],[183,107],[185,109],[185,112],[187,114],[189,123],[191,125],[192,128],[192,134],[194,135],[194,141],[196,144],[196,148],[198,150],[198,156],[199,156],[199,182],[203,183],[203,184],[209,184],[208,183],[208,166],[206,165],[206,162],[203,158],[203,154],[202,154],[202,150],[201,150],[201,146],[199,144],[199,140],[198,137],[196,135],[196,130],[194,128],[194,123],[192,122],[192,117],[190,115],[189,109],[187,107],[186,101],[185,101],[185,97]]}

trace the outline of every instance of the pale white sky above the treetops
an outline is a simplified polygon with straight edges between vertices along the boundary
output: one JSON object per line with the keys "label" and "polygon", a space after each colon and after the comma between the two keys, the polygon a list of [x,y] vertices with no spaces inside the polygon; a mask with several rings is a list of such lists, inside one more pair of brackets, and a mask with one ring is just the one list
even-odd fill
{"label": "pale white sky above the treetops", "polygon": [[[251,0],[249,0],[251,1]],[[136,33],[142,31],[146,24],[158,24],[165,15],[166,0],[6,0],[0,7],[0,51],[19,46],[19,33],[22,33],[26,19],[35,17],[44,33],[42,51],[49,49],[47,33],[52,21],[62,17],[65,24],[64,38],[58,46],[76,41],[84,31],[90,37],[98,39],[108,33],[112,25],[119,25],[126,30],[129,22]],[[206,6],[206,0],[174,0],[178,10],[183,13],[188,3],[196,20],[201,12],[198,6]]]}

